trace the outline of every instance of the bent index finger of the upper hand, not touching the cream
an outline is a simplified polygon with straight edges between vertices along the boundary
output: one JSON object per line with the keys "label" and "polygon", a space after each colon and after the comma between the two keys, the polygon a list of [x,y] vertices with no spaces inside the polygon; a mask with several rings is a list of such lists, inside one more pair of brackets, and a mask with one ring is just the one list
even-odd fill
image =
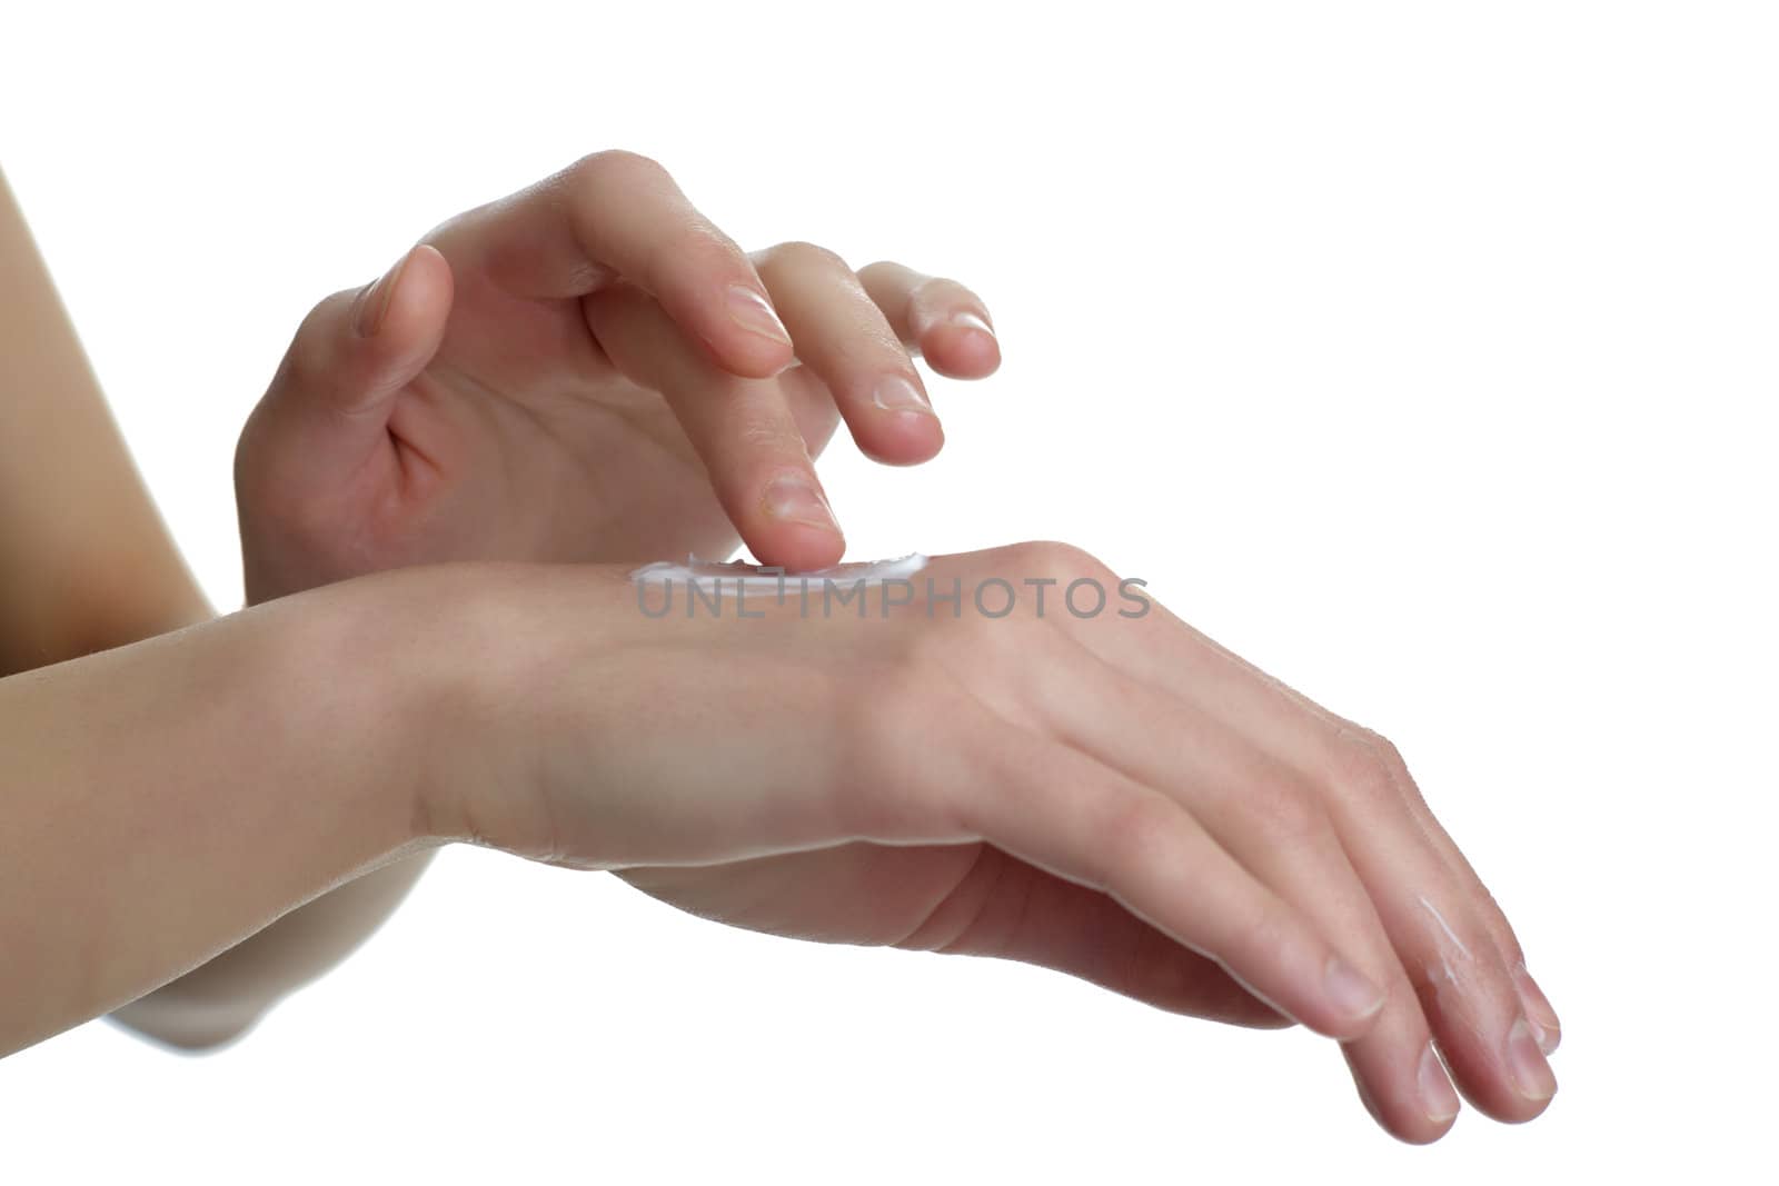
{"label": "bent index finger of the upper hand, not touching the cream", "polygon": [[735,375],[765,379],[792,363],[790,333],[747,254],[648,156],[584,156],[429,238],[518,297],[584,297],[621,276]]}

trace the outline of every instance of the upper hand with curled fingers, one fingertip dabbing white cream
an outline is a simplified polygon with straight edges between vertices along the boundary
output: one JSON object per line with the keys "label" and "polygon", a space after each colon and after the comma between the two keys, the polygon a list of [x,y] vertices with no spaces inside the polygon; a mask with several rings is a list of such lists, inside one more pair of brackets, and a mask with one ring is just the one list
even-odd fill
{"label": "upper hand with curled fingers, one fingertip dabbing white cream", "polygon": [[717,558],[737,532],[833,564],[811,455],[836,421],[893,464],[943,443],[913,354],[1000,363],[962,286],[745,256],[655,162],[589,156],[310,313],[237,452],[249,601],[441,560]]}

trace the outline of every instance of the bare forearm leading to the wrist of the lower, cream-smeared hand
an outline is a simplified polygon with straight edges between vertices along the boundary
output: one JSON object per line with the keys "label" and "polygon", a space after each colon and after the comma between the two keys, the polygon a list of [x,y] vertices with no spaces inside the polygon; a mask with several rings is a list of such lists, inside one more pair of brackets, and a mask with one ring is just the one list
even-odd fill
{"label": "bare forearm leading to the wrist of the lower, cream-smeared hand", "polygon": [[356,583],[0,681],[0,1053],[434,843],[427,681],[382,605]]}

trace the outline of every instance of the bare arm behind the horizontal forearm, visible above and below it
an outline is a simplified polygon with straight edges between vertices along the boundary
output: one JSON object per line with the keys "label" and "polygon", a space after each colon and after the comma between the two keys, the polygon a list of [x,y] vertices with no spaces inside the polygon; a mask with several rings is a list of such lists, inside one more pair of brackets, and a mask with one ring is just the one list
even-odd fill
{"label": "bare arm behind the horizontal forearm, visible above and below it", "polygon": [[[0,309],[0,676],[212,617],[4,176]],[[187,1047],[238,1035],[363,942],[425,864],[402,861],[340,887],[117,1021]]]}

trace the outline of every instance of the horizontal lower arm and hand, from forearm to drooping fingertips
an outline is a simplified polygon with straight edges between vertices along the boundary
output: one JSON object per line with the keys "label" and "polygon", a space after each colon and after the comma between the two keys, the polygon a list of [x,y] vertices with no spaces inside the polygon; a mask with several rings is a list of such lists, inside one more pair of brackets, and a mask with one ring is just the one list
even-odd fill
{"label": "horizontal lower arm and hand, from forearm to drooping fingertips", "polygon": [[[1060,544],[925,576],[962,606],[989,578],[1119,587]],[[1297,1021],[1341,1042],[1404,1140],[1457,1110],[1427,1074],[1434,1035],[1478,1110],[1542,1111],[1512,930],[1393,749],[1142,605],[1076,619],[1025,597],[989,619],[868,594],[834,615],[648,617],[628,565],[450,565],[0,681],[20,756],[0,859],[32,887],[0,907],[23,1003],[0,1049],[466,841],[731,925]],[[1469,951],[1455,989],[1423,971],[1446,928]]]}

